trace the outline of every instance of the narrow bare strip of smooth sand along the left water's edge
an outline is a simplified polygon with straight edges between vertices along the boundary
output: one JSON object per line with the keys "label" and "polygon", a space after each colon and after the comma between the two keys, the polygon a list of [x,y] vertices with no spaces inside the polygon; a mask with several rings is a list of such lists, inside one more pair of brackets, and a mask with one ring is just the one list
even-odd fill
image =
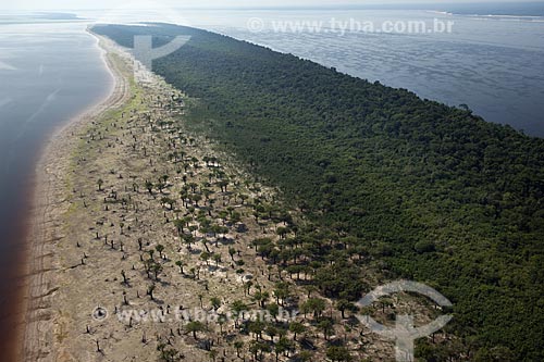
{"label": "narrow bare strip of smooth sand along the left water's edge", "polygon": [[70,168],[71,151],[79,142],[78,135],[85,127],[110,109],[122,105],[129,96],[128,79],[112,60],[114,53],[109,41],[86,30],[97,39],[101,59],[112,77],[107,95],[67,123],[52,132],[38,157],[34,188],[30,195],[32,213],[28,217],[24,252],[25,283],[21,307],[22,321],[17,330],[20,348],[16,360],[49,361],[54,325],[50,310],[50,297],[58,290],[53,273],[55,241],[63,238],[63,225],[59,222],[63,210],[70,205],[65,196],[65,175]]}

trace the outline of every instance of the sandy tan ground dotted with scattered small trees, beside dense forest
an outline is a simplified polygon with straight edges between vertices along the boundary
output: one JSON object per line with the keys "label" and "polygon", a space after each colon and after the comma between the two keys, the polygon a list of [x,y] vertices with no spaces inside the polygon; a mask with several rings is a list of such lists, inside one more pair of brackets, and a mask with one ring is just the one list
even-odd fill
{"label": "sandy tan ground dotted with scattered small trees, beside dense forest", "polygon": [[302,339],[323,360],[327,338],[391,357],[392,344],[357,324],[327,324],[323,338],[323,311],[344,319],[330,299],[298,313],[318,296],[311,271],[264,258],[273,242],[296,248],[298,212],[187,127],[197,100],[100,43],[112,93],[61,129],[37,166],[22,360],[239,361],[281,341],[275,358],[287,361]]}

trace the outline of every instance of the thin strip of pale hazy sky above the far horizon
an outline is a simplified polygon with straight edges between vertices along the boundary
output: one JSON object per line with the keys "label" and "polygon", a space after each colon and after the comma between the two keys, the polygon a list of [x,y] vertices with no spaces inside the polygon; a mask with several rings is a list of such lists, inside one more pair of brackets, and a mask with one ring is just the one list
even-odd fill
{"label": "thin strip of pale hazy sky above the far horizon", "polygon": [[[516,0],[0,0],[1,10],[81,10],[81,9],[149,9],[153,4],[168,8],[263,8],[263,7],[319,7],[339,4],[408,4],[408,3],[473,3],[473,2],[517,2]],[[527,2],[531,0],[524,0]],[[544,1],[544,0],[533,0]],[[139,4],[138,4],[139,3]],[[138,5],[137,5],[138,4]]]}

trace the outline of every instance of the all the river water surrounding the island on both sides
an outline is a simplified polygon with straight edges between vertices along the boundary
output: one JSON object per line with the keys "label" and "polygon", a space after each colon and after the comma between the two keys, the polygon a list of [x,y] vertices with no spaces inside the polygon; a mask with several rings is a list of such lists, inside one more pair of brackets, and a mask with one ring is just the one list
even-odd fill
{"label": "all the river water surrounding the island on both sides", "polygon": [[[422,10],[163,9],[149,14],[125,9],[106,17],[110,22],[162,21],[215,30],[371,82],[407,88],[423,98],[450,105],[468,104],[490,122],[544,136],[544,17],[454,15]],[[104,17],[98,11],[81,15]],[[52,132],[102,99],[112,84],[96,40],[85,33],[87,25],[53,17],[30,21],[24,15],[0,14],[2,361],[9,360],[5,351],[15,346],[13,330],[22,312],[17,309],[23,284],[21,265],[36,161]],[[263,26],[258,32],[248,27],[256,17]],[[322,21],[326,25],[332,18],[372,21],[378,25],[385,21],[437,18],[453,21],[455,26],[447,34],[274,30],[274,22],[280,20]]]}

